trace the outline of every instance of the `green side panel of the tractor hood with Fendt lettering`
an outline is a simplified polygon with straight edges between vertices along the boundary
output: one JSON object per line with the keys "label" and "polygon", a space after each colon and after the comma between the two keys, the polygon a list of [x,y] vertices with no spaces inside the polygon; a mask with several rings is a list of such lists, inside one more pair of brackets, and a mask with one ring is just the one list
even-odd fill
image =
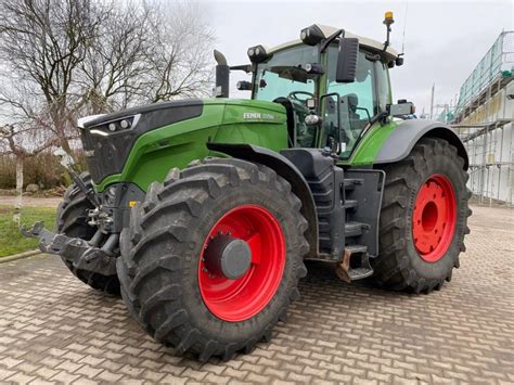
{"label": "green side panel of the tractor hood with Fendt lettering", "polygon": [[[121,174],[111,175],[94,185],[98,192],[108,184],[132,182],[146,191],[163,181],[169,169],[183,168],[191,161],[213,155],[208,141],[250,143],[273,151],[287,146],[285,108],[277,103],[214,99],[204,100],[201,116],[153,129],[133,144]],[[217,154],[220,155],[220,154]]]}

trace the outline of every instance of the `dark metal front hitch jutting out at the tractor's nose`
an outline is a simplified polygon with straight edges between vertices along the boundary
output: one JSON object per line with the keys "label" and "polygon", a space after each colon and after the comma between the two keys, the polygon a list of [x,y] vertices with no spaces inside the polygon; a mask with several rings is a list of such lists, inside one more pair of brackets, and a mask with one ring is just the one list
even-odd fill
{"label": "dark metal front hitch jutting out at the tractor's nose", "polygon": [[[31,229],[22,226],[20,229],[26,238],[39,239],[39,249],[43,253],[56,254],[70,261],[76,269],[98,272],[103,275],[116,274],[116,257],[113,254],[118,244],[119,234],[111,234],[100,248],[97,242],[100,233],[90,242],[79,238],[69,238],[64,234],[56,234],[44,229],[43,222],[34,223]],[[100,230],[99,230],[100,232]]]}

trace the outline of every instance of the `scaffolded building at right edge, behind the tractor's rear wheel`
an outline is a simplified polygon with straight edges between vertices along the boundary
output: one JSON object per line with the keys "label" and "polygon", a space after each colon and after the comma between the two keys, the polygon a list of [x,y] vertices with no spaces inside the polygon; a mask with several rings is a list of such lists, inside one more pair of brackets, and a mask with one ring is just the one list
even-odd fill
{"label": "scaffolded building at right edge, behind the tractor's rear wheel", "polygon": [[498,37],[462,85],[454,110],[444,114],[466,146],[475,198],[513,207],[514,31]]}

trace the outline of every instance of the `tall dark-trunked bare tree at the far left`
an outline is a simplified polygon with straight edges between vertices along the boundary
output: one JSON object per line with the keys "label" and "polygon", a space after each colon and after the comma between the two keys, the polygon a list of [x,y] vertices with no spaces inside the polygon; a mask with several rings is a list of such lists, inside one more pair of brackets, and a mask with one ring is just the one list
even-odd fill
{"label": "tall dark-trunked bare tree at the far left", "polygon": [[49,128],[66,151],[78,99],[75,74],[102,21],[98,7],[89,0],[1,2],[2,66],[13,75],[11,88],[31,88],[38,98],[27,106],[20,100],[26,94],[1,90],[0,103],[18,110],[26,119],[44,112]]}

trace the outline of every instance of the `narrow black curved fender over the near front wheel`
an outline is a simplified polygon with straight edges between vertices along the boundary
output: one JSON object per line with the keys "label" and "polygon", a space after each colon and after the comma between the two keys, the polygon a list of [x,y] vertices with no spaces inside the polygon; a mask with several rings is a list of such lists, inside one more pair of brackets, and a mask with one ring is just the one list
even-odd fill
{"label": "narrow black curved fender over the near front wheel", "polygon": [[309,228],[305,235],[310,245],[307,257],[318,255],[318,216],[309,184],[298,168],[287,158],[271,150],[252,144],[207,143],[207,149],[235,158],[258,163],[273,169],[291,184],[292,191],[301,201],[300,213],[307,219]]}

